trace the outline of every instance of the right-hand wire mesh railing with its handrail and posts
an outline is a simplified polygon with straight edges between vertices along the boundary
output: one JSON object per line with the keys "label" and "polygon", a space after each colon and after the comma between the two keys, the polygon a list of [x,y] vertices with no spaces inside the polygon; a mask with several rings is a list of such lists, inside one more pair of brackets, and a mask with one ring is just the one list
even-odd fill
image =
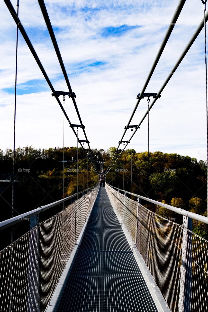
{"label": "right-hand wire mesh railing with its handrail and posts", "polygon": [[[106,191],[169,309],[208,311],[208,241],[191,228],[192,219],[208,224],[208,218],[107,183]],[[126,193],[137,197],[137,201],[125,196]],[[158,216],[142,206],[139,198],[181,214],[183,225]]]}

